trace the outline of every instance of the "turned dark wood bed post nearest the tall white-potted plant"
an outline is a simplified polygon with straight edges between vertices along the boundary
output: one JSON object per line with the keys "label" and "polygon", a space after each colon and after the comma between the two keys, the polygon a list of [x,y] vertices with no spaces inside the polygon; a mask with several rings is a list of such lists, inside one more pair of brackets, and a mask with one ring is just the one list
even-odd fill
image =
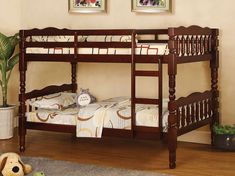
{"label": "turned dark wood bed post nearest the tall white-potted plant", "polygon": [[20,71],[20,94],[19,94],[19,140],[20,140],[20,151],[25,151],[25,135],[26,135],[26,104],[25,104],[25,81],[26,75],[25,72],[27,70],[27,63],[24,58],[24,31],[20,31],[20,62],[19,62],[19,71]]}

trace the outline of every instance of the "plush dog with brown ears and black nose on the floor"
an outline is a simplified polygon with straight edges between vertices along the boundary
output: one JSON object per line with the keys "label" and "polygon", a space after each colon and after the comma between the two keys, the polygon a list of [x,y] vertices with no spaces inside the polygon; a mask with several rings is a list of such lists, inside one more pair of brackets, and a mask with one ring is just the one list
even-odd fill
{"label": "plush dog with brown ears and black nose on the floor", "polygon": [[4,153],[0,156],[0,176],[24,176],[32,171],[16,153]]}

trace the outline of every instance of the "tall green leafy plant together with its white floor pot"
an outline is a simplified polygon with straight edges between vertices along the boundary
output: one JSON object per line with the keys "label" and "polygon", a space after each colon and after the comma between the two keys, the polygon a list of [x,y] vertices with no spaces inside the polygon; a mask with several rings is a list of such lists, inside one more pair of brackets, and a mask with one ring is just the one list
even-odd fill
{"label": "tall green leafy plant together with its white floor pot", "polygon": [[13,136],[15,106],[8,104],[7,90],[11,72],[19,61],[19,54],[14,54],[18,43],[18,33],[8,37],[0,32],[0,86],[2,90],[2,105],[0,105],[0,139],[8,139]]}

